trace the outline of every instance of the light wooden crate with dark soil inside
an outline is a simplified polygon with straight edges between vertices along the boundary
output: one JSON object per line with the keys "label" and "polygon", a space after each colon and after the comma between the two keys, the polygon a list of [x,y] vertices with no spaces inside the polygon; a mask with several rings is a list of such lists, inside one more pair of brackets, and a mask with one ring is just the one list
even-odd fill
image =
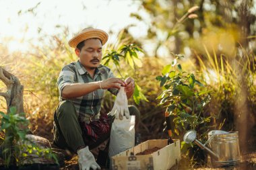
{"label": "light wooden crate with dark soil inside", "polygon": [[[154,147],[160,150],[148,155],[136,155],[146,149]],[[177,165],[181,160],[180,140],[174,139],[174,143],[167,143],[167,139],[147,140],[133,148],[123,151],[118,155],[111,157],[110,169],[113,170],[137,170],[154,169],[165,170]]]}

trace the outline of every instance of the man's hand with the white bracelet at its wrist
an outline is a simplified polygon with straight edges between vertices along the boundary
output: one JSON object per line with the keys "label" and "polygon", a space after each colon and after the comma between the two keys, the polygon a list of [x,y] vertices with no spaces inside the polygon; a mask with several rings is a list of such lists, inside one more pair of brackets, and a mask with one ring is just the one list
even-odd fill
{"label": "man's hand with the white bracelet at its wrist", "polygon": [[112,77],[109,79],[106,79],[104,81],[100,82],[100,85],[102,87],[102,89],[110,89],[110,88],[117,88],[120,89],[121,86],[126,86],[127,84],[125,83],[125,81]]}

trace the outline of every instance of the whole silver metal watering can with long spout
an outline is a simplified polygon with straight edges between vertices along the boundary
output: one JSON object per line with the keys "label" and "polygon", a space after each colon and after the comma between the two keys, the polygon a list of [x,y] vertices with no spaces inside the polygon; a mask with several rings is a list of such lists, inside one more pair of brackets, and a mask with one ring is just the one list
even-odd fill
{"label": "whole silver metal watering can with long spout", "polygon": [[[212,130],[208,133],[208,140],[202,144],[196,139],[197,132],[189,130],[183,137],[186,143],[195,142],[200,148],[210,154],[211,162],[216,167],[236,165],[240,160],[238,131]],[[210,148],[205,146],[210,145]]]}

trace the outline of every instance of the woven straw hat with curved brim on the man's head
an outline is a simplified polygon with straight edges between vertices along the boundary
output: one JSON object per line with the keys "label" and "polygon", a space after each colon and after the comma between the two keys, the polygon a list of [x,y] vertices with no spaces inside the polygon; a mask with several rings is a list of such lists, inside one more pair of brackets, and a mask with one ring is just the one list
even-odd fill
{"label": "woven straw hat with curved brim on the man's head", "polygon": [[75,35],[71,40],[69,40],[69,46],[76,48],[77,44],[90,38],[98,38],[101,40],[102,45],[104,45],[108,40],[108,34],[103,30],[95,28],[85,28],[84,30],[82,30],[82,32]]}

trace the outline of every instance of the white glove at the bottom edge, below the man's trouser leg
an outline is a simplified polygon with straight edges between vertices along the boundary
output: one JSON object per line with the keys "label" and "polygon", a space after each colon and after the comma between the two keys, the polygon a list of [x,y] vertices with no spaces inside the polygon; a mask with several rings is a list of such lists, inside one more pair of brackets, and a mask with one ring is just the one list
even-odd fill
{"label": "white glove at the bottom edge, below the man's trouser leg", "polygon": [[94,155],[89,151],[88,146],[77,151],[79,170],[90,170],[90,168],[96,170],[100,169],[94,159]]}

